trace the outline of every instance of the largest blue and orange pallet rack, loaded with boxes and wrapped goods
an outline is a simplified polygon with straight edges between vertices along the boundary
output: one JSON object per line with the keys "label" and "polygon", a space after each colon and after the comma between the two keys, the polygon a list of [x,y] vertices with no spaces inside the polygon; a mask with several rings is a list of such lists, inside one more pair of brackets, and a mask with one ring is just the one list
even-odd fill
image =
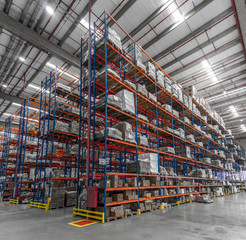
{"label": "largest blue and orange pallet rack, loaded with boxes and wrapped goods", "polygon": [[[107,19],[117,31],[107,27]],[[129,46],[122,47],[118,32],[129,38]],[[99,188],[95,211],[111,220],[243,187],[245,151],[235,149],[238,143],[225,137],[227,130],[109,14],[97,19],[91,38],[83,42],[89,47],[87,52],[81,47],[80,91],[92,93],[86,99],[92,128],[82,134],[92,134],[92,140],[87,139],[86,150],[79,149],[88,159],[88,184]],[[86,208],[86,183],[78,177],[77,184],[77,207]],[[91,200],[87,197],[87,207]]]}

